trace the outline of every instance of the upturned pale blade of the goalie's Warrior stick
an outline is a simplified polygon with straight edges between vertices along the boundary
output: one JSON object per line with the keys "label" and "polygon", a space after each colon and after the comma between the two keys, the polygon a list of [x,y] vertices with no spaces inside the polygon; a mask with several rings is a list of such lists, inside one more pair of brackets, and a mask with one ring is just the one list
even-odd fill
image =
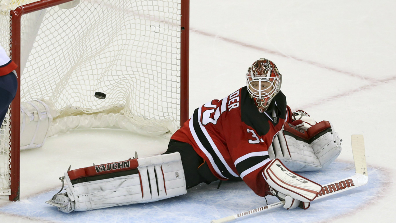
{"label": "upturned pale blade of the goalie's Warrior stick", "polygon": [[356,173],[368,176],[363,135],[352,135],[350,140],[352,143],[352,154]]}

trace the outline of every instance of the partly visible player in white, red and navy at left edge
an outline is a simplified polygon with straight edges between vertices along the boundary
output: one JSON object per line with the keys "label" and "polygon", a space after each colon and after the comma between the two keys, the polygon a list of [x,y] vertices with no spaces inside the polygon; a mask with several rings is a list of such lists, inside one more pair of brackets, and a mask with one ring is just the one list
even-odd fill
{"label": "partly visible player in white, red and navy at left edge", "polygon": [[0,46],[0,125],[6,117],[8,108],[17,93],[17,65],[7,56]]}

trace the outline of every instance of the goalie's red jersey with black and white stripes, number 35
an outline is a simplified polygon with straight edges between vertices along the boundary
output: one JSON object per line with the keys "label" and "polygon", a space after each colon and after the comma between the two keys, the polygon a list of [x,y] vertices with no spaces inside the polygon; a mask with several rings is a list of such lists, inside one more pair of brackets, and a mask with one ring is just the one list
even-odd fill
{"label": "goalie's red jersey with black and white stripes, number 35", "polygon": [[260,113],[243,87],[197,108],[171,139],[192,145],[217,178],[241,178],[265,196],[269,187],[261,173],[270,161],[268,146],[285,121],[291,122],[291,110],[282,92]]}

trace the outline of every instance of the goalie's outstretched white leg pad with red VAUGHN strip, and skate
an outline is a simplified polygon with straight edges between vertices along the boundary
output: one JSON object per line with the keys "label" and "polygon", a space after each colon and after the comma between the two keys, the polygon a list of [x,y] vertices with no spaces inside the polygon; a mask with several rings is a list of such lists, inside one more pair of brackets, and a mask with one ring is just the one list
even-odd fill
{"label": "goalie's outstretched white leg pad with red VAUGHN strip, and skate", "polygon": [[65,173],[69,187],[48,204],[65,213],[147,203],[187,193],[178,152],[107,163]]}

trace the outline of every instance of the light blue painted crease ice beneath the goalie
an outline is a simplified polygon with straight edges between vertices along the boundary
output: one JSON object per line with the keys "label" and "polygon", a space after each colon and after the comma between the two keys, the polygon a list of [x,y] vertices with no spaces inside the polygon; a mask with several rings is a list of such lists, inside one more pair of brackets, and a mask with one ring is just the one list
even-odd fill
{"label": "light blue painted crease ice beneath the goalie", "polygon": [[[305,223],[334,219],[334,217],[354,213],[356,209],[370,202],[371,196],[381,194],[378,191],[378,183],[386,178],[385,173],[372,167],[369,167],[368,172],[370,173],[370,181],[367,185],[335,195],[331,199],[314,201],[306,211],[278,208],[278,210],[257,213],[239,221],[249,223],[266,221]],[[350,177],[354,174],[354,166],[352,163],[336,162],[324,171],[301,174],[324,184],[330,183],[334,179]],[[24,218],[64,223],[209,223],[213,219],[266,205],[265,199],[257,196],[244,182],[224,182],[220,189],[217,189],[217,183],[201,184],[188,190],[187,194],[176,198],[147,204],[133,204],[69,214],[60,212],[57,208],[44,203],[56,192],[58,191],[52,190],[31,196],[21,202],[4,206],[0,208],[0,211]],[[278,199],[273,196],[268,196],[267,200],[269,204],[278,202]]]}

